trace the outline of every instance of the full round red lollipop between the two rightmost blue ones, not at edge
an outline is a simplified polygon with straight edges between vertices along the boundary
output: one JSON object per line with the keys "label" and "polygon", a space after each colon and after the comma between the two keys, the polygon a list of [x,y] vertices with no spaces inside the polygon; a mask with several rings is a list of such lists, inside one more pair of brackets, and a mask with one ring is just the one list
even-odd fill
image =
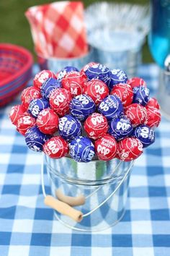
{"label": "full round red lollipop between the two rightmost blue ones, not at edge", "polygon": [[147,119],[146,108],[138,103],[133,103],[125,108],[125,115],[128,116],[133,127],[144,124]]}

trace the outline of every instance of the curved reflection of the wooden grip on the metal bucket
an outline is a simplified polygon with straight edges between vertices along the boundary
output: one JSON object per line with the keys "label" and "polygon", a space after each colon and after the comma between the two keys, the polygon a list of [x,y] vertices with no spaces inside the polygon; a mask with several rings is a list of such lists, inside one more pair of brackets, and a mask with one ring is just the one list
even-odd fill
{"label": "curved reflection of the wooden grip on the metal bucket", "polygon": [[64,195],[61,189],[57,189],[55,191],[55,195],[58,197],[58,200],[66,202],[66,204],[70,206],[84,205],[86,200],[84,195],[79,195],[78,197],[69,197],[68,195]]}

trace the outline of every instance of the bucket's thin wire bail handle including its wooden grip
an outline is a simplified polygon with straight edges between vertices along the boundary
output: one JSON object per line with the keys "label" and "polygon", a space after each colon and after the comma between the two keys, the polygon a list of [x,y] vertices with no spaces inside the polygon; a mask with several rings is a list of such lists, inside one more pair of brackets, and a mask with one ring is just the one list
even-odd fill
{"label": "bucket's thin wire bail handle including its wooden grip", "polygon": [[[52,195],[47,195],[46,194],[46,192],[45,192],[45,184],[44,184],[44,155],[42,153],[41,186],[42,186],[42,194],[45,197],[45,200],[44,200],[45,205],[48,205],[50,208],[53,208],[54,210],[57,210],[58,213],[61,213],[63,215],[66,215],[66,216],[72,218],[73,221],[80,222],[80,221],[82,221],[82,219],[84,217],[89,216],[91,213],[94,213],[95,210],[99,209],[102,205],[104,205],[104,203],[107,202],[107,200],[109,200],[109,198],[112,197],[115,194],[115,192],[117,192],[117,189],[119,189],[119,187],[121,186],[122,182],[124,182],[125,178],[128,176],[128,174],[130,172],[130,169],[133,166],[133,163],[134,163],[134,161],[132,161],[130,163],[130,166],[129,166],[128,170],[126,171],[125,176],[119,182],[119,184],[117,185],[115,190],[104,201],[102,201],[99,205],[97,205],[97,207],[95,207],[93,210],[90,210],[89,213],[83,214],[83,213],[81,213],[81,211],[74,209],[73,207],[71,207],[71,205],[68,205],[68,203],[62,202],[61,200],[57,200]],[[97,188],[94,192],[97,192],[99,189],[100,188]],[[94,195],[94,192],[91,193],[91,194]]]}

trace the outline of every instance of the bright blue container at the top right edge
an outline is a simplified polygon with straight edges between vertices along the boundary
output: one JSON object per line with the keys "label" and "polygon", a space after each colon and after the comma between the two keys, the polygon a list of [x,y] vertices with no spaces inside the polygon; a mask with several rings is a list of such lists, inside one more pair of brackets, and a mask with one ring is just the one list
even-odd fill
{"label": "bright blue container at the top right edge", "polygon": [[151,14],[148,42],[153,59],[159,67],[164,67],[170,53],[170,0],[152,0]]}

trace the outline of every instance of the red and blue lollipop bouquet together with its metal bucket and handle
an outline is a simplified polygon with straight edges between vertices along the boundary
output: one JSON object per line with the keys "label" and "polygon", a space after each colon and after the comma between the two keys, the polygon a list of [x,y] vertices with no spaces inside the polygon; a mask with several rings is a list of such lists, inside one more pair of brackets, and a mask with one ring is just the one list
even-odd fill
{"label": "red and blue lollipop bouquet together with its metal bucket and handle", "polygon": [[9,117],[27,146],[47,155],[53,196],[45,193],[43,164],[42,192],[59,221],[80,231],[120,221],[133,160],[154,142],[161,121],[142,78],[94,62],[80,71],[43,70]]}

